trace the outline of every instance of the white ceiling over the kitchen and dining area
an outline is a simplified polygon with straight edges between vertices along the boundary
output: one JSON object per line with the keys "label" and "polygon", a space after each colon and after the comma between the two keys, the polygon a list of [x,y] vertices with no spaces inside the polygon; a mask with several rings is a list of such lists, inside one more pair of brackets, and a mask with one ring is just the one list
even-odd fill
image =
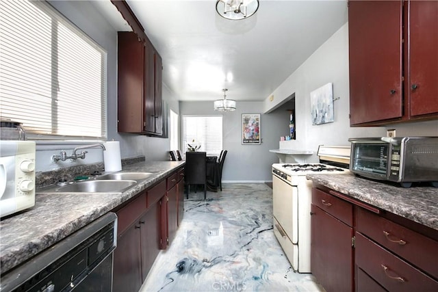
{"label": "white ceiling over the kitchen and dining area", "polygon": [[[100,2],[116,29],[129,30]],[[213,101],[222,88],[236,101],[263,101],[348,19],[346,0],[259,2],[255,15],[229,21],[216,0],[127,0],[181,101]]]}

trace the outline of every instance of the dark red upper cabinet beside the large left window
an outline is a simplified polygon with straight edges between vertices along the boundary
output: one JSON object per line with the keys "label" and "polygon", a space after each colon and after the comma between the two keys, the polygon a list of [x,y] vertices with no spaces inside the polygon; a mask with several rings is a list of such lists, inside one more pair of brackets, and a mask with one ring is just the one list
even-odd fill
{"label": "dark red upper cabinet beside the large left window", "polygon": [[162,135],[162,59],[149,40],[118,32],[118,131]]}

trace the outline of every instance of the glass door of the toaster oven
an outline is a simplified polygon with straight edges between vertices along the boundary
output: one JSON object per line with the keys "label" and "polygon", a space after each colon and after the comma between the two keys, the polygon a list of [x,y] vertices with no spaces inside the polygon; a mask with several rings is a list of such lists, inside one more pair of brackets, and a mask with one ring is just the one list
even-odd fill
{"label": "glass door of the toaster oven", "polygon": [[391,144],[385,142],[354,142],[351,147],[350,171],[379,180],[387,180]]}

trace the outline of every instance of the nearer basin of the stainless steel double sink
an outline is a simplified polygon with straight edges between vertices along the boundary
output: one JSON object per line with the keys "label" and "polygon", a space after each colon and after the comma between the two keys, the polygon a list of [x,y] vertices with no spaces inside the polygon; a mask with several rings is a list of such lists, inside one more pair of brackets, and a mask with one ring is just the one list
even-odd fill
{"label": "nearer basin of the stainless steel double sink", "polygon": [[40,193],[121,193],[136,183],[136,181],[81,181],[63,187],[44,189]]}

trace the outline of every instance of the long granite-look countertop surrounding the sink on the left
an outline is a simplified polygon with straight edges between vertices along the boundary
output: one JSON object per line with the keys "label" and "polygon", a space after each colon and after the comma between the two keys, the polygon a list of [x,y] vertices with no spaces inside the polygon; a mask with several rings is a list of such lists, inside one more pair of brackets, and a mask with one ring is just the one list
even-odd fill
{"label": "long granite-look countertop surrounding the sink on the left", "polygon": [[35,206],[0,222],[1,273],[27,261],[93,220],[161,181],[185,161],[140,162],[123,172],[154,172],[123,194],[37,194]]}

